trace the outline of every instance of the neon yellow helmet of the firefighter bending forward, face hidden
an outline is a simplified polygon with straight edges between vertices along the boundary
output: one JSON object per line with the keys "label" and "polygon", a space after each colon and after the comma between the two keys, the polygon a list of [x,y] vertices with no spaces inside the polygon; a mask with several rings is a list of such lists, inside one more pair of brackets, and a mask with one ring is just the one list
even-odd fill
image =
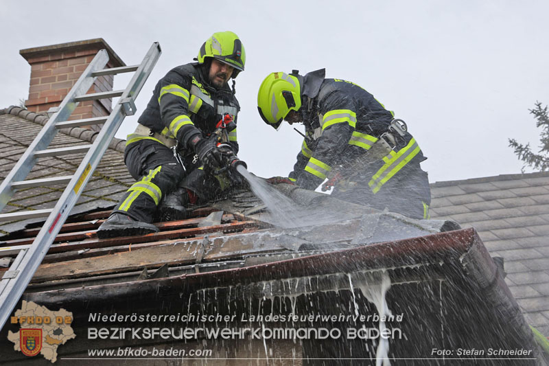
{"label": "neon yellow helmet of the firefighter bending forward, face hidden", "polygon": [[288,73],[270,73],[257,92],[257,110],[266,124],[279,129],[290,111],[301,108],[299,79]]}

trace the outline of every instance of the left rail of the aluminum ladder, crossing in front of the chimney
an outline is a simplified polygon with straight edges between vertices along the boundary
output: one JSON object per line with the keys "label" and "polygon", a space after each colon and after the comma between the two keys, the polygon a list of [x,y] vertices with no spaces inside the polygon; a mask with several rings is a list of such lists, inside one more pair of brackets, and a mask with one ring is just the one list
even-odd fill
{"label": "left rail of the aluminum ladder, crossing in front of the chimney", "polygon": [[97,70],[103,69],[107,62],[107,52],[104,49],[97,52],[95,58],[91,60],[88,67],[86,67],[80,78],[78,78],[65,99],[63,99],[59,105],[58,111],[49,118],[49,121],[42,130],[40,130],[40,133],[38,133],[34,141],[32,141],[19,161],[14,165],[8,176],[5,177],[0,185],[0,210],[8,204],[8,201],[10,201],[10,198],[12,198],[15,193],[12,188],[12,183],[15,181],[24,181],[32,168],[34,168],[36,163],[34,152],[45,150],[45,148],[51,144],[51,140],[53,140],[58,133],[58,129],[55,127],[56,123],[69,119],[71,113],[73,113],[78,105],[78,102],[73,102],[74,98],[77,95],[86,93],[86,91],[91,88],[95,81],[95,77],[91,76],[91,74]]}

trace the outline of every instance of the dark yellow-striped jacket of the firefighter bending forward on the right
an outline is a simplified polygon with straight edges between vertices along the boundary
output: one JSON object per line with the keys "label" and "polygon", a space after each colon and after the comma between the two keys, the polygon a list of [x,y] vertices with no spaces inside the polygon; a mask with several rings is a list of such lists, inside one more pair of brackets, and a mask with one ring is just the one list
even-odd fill
{"label": "dark yellow-striped jacket of the firefighter bending forward on the right", "polygon": [[[307,137],[289,177],[301,187],[314,190],[329,177],[332,168],[348,166],[368,152],[388,131],[393,113],[357,84],[325,79],[325,69],[305,75],[301,94],[300,112]],[[412,160],[419,163],[425,157],[412,135],[398,136],[393,150],[370,172],[367,183],[371,192],[377,193]]]}

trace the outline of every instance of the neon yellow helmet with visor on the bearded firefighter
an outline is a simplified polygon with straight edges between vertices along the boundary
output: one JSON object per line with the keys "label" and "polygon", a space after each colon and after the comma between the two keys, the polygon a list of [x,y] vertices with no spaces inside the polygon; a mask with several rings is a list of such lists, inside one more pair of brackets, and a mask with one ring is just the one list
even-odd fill
{"label": "neon yellow helmet with visor on the bearded firefighter", "polygon": [[235,70],[231,78],[236,78],[240,71],[244,71],[244,63],[246,63],[244,45],[240,38],[231,31],[214,33],[202,44],[198,52],[198,63],[204,63],[207,57],[215,58],[234,67]]}

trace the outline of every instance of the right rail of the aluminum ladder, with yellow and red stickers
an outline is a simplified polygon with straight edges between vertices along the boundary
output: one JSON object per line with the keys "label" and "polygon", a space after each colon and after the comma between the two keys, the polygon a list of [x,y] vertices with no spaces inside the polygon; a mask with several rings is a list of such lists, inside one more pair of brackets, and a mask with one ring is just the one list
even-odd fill
{"label": "right rail of the aluminum ladder, with yellow and red stickers", "polygon": [[[14,266],[10,268],[10,271],[13,269],[14,271],[21,272],[15,278],[3,279],[0,286],[0,288],[4,286],[0,293],[0,328],[3,327],[21,295],[23,295],[26,286],[30,283],[38,266],[40,266],[51,243],[69,216],[72,207],[78,201],[84,186],[93,175],[93,170],[99,164],[100,159],[108,148],[110,140],[114,137],[124,117],[128,115],[128,106],[124,104],[133,104],[133,98],[141,91],[160,54],[161,48],[159,43],[153,43],[119,102],[110,113],[99,135],[97,135],[93,146],[87,152],[82,163],[80,163],[73,179],[71,179],[71,183],[69,183],[53,211],[48,216],[44,226],[38,232],[31,247],[25,251],[21,262],[15,268],[13,268]],[[133,110],[135,111],[135,104],[133,104]],[[7,284],[4,285],[4,282]]]}

